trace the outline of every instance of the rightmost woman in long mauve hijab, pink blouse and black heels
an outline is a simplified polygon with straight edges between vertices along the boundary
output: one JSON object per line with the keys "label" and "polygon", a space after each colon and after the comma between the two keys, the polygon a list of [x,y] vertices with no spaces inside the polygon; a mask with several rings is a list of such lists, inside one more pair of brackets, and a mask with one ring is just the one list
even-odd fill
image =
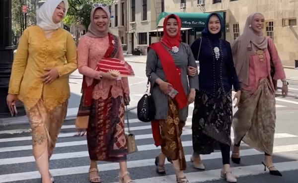
{"label": "rightmost woman in long mauve hijab, pink blouse and black heels", "polygon": [[233,60],[241,86],[238,111],[233,116],[234,146],[231,160],[240,164],[240,142],[264,152],[262,164],[271,175],[282,176],[272,162],[275,133],[276,81],[283,82],[282,93],[288,93],[288,83],[277,49],[269,37],[263,36],[264,16],[251,14],[243,34],[231,45]]}

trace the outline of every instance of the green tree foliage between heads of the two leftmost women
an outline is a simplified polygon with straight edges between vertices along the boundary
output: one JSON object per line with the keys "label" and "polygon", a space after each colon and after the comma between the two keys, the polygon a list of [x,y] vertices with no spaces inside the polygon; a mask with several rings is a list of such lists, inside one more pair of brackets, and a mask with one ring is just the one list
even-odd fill
{"label": "green tree foliage between heads of the two leftmost women", "polygon": [[116,0],[69,0],[69,9],[63,23],[70,26],[73,23],[81,24],[87,30],[90,24],[90,13],[93,3],[112,5]]}

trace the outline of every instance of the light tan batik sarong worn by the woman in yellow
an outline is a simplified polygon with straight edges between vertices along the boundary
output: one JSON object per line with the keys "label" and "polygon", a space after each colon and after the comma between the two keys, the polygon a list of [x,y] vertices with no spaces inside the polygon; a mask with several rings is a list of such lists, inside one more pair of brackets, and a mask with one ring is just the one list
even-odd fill
{"label": "light tan batik sarong worn by the woman in yellow", "polygon": [[46,148],[48,148],[49,159],[51,158],[62,123],[67,115],[67,106],[68,100],[55,109],[48,111],[43,100],[40,99],[33,108],[27,109],[25,107],[32,130],[32,144],[35,149],[33,155],[35,158],[40,157]]}

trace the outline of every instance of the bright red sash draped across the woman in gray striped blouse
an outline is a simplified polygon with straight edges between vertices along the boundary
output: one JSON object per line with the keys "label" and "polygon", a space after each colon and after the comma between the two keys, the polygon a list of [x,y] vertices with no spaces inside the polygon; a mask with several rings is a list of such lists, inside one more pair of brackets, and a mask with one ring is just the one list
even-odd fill
{"label": "bright red sash draped across the woman in gray striped blouse", "polygon": [[[172,84],[172,87],[178,91],[178,94],[174,98],[178,104],[178,108],[183,109],[187,106],[188,101],[181,82],[181,69],[176,67],[173,57],[162,46],[162,43],[154,43],[150,45],[149,48],[153,49],[158,55],[167,82]],[[152,121],[151,128],[155,146],[158,147],[161,139],[159,121]]]}

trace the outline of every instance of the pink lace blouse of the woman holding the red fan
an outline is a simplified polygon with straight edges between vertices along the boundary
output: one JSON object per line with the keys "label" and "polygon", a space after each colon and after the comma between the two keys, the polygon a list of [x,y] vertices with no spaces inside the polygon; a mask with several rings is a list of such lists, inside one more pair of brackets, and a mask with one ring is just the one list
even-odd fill
{"label": "pink lace blouse of the woman holding the red fan", "polygon": [[[118,52],[115,58],[120,61],[124,61],[123,51],[121,47],[121,41],[118,38]],[[96,71],[97,62],[100,61],[105,55],[109,46],[109,38],[105,36],[103,38],[91,38],[88,36],[82,36],[77,46],[77,67],[78,72],[86,77],[87,85],[90,86],[93,79],[99,79],[100,73]],[[99,98],[107,99],[109,91],[113,98],[123,96],[123,94],[129,94],[128,78],[122,77],[121,80],[108,80],[102,78],[102,80],[95,86],[92,94],[92,98],[98,100]]]}

